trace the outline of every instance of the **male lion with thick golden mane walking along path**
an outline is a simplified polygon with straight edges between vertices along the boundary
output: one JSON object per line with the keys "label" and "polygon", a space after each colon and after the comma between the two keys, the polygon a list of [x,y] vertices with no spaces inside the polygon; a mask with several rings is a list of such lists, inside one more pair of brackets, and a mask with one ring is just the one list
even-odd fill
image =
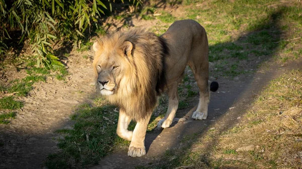
{"label": "male lion with thick golden mane walking along path", "polygon": [[[132,29],[104,36],[93,44],[96,90],[119,106],[117,134],[131,141],[128,155],[146,153],[146,129],[158,96],[166,92],[169,106],[158,127],[167,128],[178,108],[177,86],[190,66],[199,87],[199,103],[193,119],[206,119],[209,103],[208,41],[204,28],[193,20],[173,23],[162,36]],[[216,91],[218,83],[211,83]],[[131,120],[137,123],[128,130]]]}

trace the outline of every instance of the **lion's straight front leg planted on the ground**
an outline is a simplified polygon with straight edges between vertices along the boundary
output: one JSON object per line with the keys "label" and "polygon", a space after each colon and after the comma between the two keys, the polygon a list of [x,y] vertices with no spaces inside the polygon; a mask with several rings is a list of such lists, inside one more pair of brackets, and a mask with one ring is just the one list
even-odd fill
{"label": "lion's straight front leg planted on the ground", "polygon": [[132,140],[128,149],[128,155],[132,157],[142,156],[146,154],[144,139],[146,135],[147,126],[151,117],[149,113],[145,119],[138,120],[133,130]]}

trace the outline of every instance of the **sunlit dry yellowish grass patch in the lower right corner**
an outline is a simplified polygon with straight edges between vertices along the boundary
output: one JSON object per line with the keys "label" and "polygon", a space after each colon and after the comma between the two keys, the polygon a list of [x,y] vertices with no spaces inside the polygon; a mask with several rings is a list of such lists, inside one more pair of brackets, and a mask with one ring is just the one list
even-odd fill
{"label": "sunlit dry yellowish grass patch in the lower right corner", "polygon": [[273,80],[245,118],[248,122],[241,130],[219,139],[221,147],[236,150],[238,154],[229,153],[233,159],[257,168],[302,166],[302,70]]}

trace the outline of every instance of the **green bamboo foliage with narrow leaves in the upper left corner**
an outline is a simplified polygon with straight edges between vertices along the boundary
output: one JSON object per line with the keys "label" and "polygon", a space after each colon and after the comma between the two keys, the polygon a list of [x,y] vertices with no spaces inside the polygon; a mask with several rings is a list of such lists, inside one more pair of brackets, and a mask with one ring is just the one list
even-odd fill
{"label": "green bamboo foliage with narrow leaves in the upper left corner", "polygon": [[20,30],[19,43],[30,40],[37,66],[62,66],[51,45],[64,40],[79,47],[85,31],[108,10],[104,3],[112,9],[111,0],[0,0],[0,58],[6,54],[10,31]]}

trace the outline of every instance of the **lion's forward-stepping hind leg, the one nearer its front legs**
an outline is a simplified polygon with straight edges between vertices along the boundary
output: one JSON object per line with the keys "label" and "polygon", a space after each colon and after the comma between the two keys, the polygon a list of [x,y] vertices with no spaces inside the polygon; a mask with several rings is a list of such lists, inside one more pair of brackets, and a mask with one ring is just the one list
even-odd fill
{"label": "lion's forward-stepping hind leg, the one nearer its front legs", "polygon": [[169,97],[169,106],[165,118],[161,119],[158,123],[158,127],[168,128],[173,122],[175,117],[176,110],[178,108],[178,100],[179,96],[177,93],[177,82],[173,82],[173,84],[169,87],[168,97]]}

